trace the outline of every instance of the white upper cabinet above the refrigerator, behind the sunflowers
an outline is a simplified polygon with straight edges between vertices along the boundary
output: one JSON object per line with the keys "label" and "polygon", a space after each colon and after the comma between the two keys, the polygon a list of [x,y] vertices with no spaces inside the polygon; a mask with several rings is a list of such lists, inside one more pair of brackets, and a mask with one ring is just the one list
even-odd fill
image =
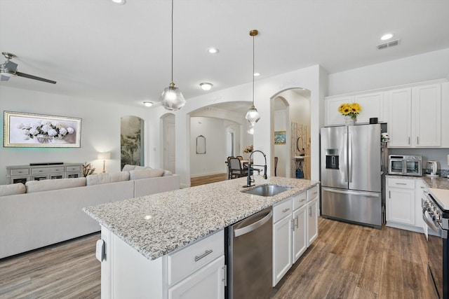
{"label": "white upper cabinet above the refrigerator, behind the sunflowers", "polygon": [[357,123],[369,123],[370,118],[384,121],[384,93],[371,92],[361,95],[346,95],[342,97],[326,98],[325,125],[344,125],[344,116],[338,112],[338,106],[343,103],[358,103],[362,107],[357,116]]}

